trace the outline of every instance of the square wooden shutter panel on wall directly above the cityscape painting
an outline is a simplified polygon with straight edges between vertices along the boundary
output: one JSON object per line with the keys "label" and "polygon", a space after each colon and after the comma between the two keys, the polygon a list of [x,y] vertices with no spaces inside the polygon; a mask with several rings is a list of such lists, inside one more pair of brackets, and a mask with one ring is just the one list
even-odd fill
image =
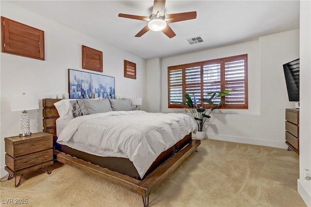
{"label": "square wooden shutter panel on wall directly above the cityscape painting", "polygon": [[82,45],[82,68],[103,72],[103,52]]}

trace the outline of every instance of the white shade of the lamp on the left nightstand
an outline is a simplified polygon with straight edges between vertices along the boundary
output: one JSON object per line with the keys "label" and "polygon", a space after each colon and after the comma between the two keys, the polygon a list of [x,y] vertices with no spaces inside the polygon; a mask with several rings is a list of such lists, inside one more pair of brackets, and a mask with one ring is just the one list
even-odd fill
{"label": "white shade of the lamp on the left nightstand", "polygon": [[39,108],[37,95],[13,95],[10,104],[11,111],[34,110]]}

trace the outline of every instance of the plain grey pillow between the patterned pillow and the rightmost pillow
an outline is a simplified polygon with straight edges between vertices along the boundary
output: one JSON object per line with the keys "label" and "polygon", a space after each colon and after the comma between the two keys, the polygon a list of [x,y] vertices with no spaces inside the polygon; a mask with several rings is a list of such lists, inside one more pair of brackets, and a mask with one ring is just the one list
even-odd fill
{"label": "plain grey pillow between the patterned pillow and the rightmost pillow", "polygon": [[108,99],[101,99],[101,100],[82,99],[81,102],[79,102],[79,105],[83,115],[112,111]]}

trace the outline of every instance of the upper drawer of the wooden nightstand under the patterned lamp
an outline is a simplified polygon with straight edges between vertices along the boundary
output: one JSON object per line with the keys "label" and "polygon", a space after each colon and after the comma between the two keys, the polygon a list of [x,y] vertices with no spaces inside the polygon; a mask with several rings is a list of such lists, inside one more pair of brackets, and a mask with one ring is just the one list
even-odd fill
{"label": "upper drawer of the wooden nightstand under the patterned lamp", "polygon": [[11,157],[17,157],[51,148],[53,148],[53,140],[51,138],[47,138],[23,144],[16,144],[16,145],[6,144],[5,152]]}

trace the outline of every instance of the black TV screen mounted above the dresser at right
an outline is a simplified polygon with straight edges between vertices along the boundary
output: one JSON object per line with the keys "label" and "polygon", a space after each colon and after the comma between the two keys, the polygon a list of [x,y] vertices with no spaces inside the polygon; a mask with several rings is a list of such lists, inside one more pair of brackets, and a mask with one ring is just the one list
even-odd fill
{"label": "black TV screen mounted above the dresser at right", "polygon": [[288,98],[299,102],[299,58],[283,65]]}

